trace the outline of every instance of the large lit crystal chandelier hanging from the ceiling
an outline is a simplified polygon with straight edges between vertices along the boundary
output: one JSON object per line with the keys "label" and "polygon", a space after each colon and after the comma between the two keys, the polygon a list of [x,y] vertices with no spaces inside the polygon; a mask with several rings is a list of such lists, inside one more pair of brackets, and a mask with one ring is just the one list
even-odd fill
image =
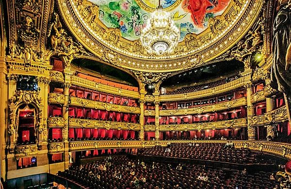
{"label": "large lit crystal chandelier hanging from the ceiling", "polygon": [[147,20],[141,33],[142,46],[150,54],[169,54],[178,46],[180,30],[174,24],[170,13],[163,11],[161,0],[159,6]]}

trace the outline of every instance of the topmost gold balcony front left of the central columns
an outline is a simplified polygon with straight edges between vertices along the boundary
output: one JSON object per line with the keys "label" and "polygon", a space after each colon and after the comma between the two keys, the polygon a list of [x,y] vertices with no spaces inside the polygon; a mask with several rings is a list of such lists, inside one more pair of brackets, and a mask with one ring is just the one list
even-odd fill
{"label": "topmost gold balcony front left of the central columns", "polygon": [[140,94],[137,91],[129,91],[126,89],[120,89],[117,87],[112,87],[109,85],[97,83],[97,82],[90,81],[90,80],[83,79],[83,78],[79,78],[77,76],[71,77],[71,83],[72,83],[72,85],[77,85],[80,87],[88,88],[88,89],[91,89],[94,91],[99,91],[99,92],[103,92],[103,93],[107,93],[107,94],[115,94],[115,95],[119,95],[119,96],[126,96],[126,97],[130,97],[130,98],[135,98],[135,99],[140,98]]}

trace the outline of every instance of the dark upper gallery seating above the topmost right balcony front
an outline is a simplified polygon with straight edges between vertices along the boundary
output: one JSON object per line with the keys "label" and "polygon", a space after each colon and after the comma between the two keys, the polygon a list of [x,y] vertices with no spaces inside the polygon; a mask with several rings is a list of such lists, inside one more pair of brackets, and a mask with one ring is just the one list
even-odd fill
{"label": "dark upper gallery seating above the topmost right balcony front", "polygon": [[194,85],[194,86],[190,86],[190,87],[182,87],[182,88],[176,89],[174,91],[171,91],[167,94],[191,93],[191,92],[195,92],[195,91],[201,91],[204,89],[210,89],[212,87],[216,87],[216,86],[228,83],[228,82],[233,81],[233,80],[238,79],[238,78],[239,78],[239,76],[233,76],[230,78],[222,79],[222,80],[211,82],[211,83]]}

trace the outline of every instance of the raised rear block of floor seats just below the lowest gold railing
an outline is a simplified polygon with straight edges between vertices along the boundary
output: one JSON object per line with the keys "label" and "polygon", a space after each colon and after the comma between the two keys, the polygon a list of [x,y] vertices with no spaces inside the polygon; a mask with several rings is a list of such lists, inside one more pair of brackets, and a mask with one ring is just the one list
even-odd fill
{"label": "raised rear block of floor seats just below the lowest gold railing", "polygon": [[201,159],[239,164],[274,164],[259,153],[245,148],[234,148],[225,143],[171,143],[166,147],[142,149],[139,155]]}

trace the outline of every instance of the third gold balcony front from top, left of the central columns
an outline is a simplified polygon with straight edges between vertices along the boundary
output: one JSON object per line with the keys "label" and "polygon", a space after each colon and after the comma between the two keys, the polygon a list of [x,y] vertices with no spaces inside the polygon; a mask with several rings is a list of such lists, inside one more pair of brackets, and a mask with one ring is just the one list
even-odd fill
{"label": "third gold balcony front from top, left of the central columns", "polygon": [[140,124],[69,118],[69,127],[141,130]]}

